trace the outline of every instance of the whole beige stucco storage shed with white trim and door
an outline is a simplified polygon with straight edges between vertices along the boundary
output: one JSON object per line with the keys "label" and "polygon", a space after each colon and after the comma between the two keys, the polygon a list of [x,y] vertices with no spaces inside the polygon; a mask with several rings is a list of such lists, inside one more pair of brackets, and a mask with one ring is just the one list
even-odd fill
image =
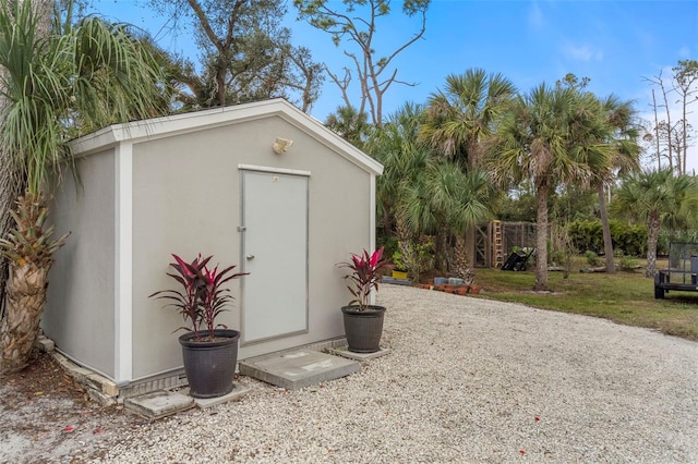
{"label": "whole beige stucco storage shed with white trim and door", "polygon": [[73,152],[43,319],[65,356],[120,388],[180,375],[183,321],[148,298],[176,288],[172,253],[250,272],[220,317],[239,359],[344,335],[335,264],[373,248],[383,168],[318,121],[274,99],[112,125]]}

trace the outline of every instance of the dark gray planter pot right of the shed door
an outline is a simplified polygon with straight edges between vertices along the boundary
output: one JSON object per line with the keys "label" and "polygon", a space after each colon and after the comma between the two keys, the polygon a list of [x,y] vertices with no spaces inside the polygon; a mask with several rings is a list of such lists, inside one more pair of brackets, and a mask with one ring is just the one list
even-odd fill
{"label": "dark gray planter pot right of the shed door", "polygon": [[341,308],[345,319],[345,334],[349,351],[354,353],[375,353],[381,350],[383,335],[384,306],[370,305],[366,310],[359,306]]}

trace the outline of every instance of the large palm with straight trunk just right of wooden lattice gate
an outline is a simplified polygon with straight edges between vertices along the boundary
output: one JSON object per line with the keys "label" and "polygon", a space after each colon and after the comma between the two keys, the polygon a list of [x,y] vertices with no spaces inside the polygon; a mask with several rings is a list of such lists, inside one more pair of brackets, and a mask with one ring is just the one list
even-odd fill
{"label": "large palm with straight trunk just right of wooden lattice gate", "polygon": [[490,151],[488,167],[500,184],[533,182],[537,291],[547,290],[549,196],[559,184],[588,183],[590,166],[598,163],[594,158],[602,151],[579,144],[575,133],[583,126],[581,118],[587,115],[578,90],[541,84],[512,101]]}

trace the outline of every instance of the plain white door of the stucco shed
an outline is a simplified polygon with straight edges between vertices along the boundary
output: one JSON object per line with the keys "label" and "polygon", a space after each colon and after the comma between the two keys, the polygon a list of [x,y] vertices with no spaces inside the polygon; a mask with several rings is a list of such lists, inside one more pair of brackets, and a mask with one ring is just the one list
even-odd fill
{"label": "plain white door of the stucco shed", "polygon": [[242,171],[242,343],[308,331],[308,176]]}

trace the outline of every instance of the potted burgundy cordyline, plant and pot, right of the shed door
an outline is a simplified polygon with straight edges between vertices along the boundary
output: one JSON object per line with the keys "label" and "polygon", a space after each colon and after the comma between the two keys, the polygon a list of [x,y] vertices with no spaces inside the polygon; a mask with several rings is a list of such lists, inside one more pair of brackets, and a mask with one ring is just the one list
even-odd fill
{"label": "potted burgundy cordyline, plant and pot, right of the shed door", "polygon": [[351,261],[339,262],[337,266],[351,270],[345,279],[350,281],[347,289],[353,295],[353,300],[341,308],[349,351],[375,353],[381,350],[385,307],[369,303],[371,292],[378,291],[380,271],[390,269],[393,265],[383,259],[381,247],[373,254],[365,249],[361,255],[352,254]]}

